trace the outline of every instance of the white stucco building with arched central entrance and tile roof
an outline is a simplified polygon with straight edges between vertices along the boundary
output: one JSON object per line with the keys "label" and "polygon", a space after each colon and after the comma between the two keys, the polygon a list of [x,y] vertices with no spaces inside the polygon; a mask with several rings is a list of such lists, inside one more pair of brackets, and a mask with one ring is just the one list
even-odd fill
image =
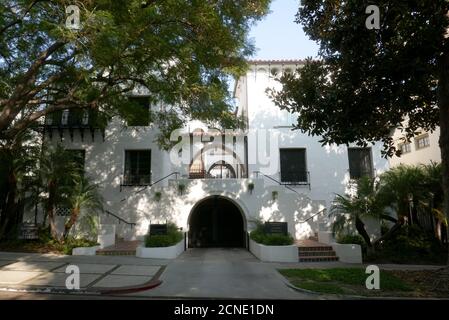
{"label": "white stucco building with arched central entrance and tile roof", "polygon": [[101,222],[116,225],[120,237],[141,239],[150,223],[172,221],[188,232],[189,246],[247,246],[257,221],[284,221],[296,239],[307,238],[335,193],[343,194],[352,178],[385,171],[388,162],[380,145],[322,147],[319,137],[291,130],[295,117],[265,90],[279,89],[275,77],[301,63],[251,62],[235,85],[236,116],[246,129],[220,132],[192,122],[172,152],[154,142],[155,124],[118,118],[102,132],[63,114],[47,122],[45,138],[84,154],[85,173],[112,213]]}

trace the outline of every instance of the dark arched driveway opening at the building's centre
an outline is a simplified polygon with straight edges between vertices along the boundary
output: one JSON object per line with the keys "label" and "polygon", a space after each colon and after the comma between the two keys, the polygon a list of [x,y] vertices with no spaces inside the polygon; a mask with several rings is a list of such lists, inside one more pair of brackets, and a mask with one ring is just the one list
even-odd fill
{"label": "dark arched driveway opening at the building's centre", "polygon": [[243,218],[239,208],[220,197],[204,200],[189,221],[189,248],[245,247]]}

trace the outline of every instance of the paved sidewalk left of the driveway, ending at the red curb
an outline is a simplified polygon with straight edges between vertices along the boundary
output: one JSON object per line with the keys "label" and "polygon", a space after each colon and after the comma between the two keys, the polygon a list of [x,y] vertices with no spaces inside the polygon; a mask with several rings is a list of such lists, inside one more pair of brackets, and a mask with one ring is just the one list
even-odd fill
{"label": "paved sidewalk left of the driveway, ending at the red curb", "polygon": [[69,265],[80,270],[80,289],[100,294],[154,284],[166,260],[0,252],[0,289],[67,291]]}

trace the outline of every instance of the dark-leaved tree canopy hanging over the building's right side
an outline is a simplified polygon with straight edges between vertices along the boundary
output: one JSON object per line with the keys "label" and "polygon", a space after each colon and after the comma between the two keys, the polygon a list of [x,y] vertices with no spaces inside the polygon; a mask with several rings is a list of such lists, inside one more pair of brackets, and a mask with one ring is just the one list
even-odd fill
{"label": "dark-leaved tree canopy hanging over the building's right side", "polygon": [[[380,9],[378,30],[365,25],[370,4]],[[320,45],[320,59],[284,75],[274,101],[300,114],[295,129],[323,143],[382,141],[394,154],[393,129],[410,139],[439,124],[448,8],[445,0],[302,1],[296,22]]]}

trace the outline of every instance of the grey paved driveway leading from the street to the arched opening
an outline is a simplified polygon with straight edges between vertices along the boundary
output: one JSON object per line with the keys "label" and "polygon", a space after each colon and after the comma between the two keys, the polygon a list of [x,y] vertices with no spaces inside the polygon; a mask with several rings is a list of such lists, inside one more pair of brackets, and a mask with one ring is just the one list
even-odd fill
{"label": "grey paved driveway leading from the street to the arched opening", "polygon": [[[286,286],[273,264],[244,249],[189,249],[169,263],[151,297],[316,299]],[[134,294],[135,295],[135,294]]]}

